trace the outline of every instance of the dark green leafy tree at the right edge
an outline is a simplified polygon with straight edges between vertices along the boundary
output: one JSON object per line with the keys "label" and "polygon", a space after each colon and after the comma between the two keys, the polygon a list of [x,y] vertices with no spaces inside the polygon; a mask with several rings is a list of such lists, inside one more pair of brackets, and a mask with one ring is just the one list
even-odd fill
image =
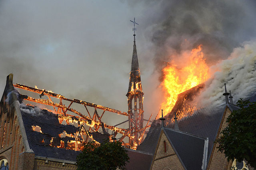
{"label": "dark green leafy tree at the right edge", "polygon": [[227,118],[228,126],[215,142],[229,160],[246,160],[256,168],[256,102],[238,100],[239,110]]}

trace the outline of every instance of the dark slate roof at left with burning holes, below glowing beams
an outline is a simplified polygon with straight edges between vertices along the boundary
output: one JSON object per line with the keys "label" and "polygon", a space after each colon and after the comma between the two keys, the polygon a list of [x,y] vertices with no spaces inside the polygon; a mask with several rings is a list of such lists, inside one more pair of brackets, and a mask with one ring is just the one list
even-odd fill
{"label": "dark slate roof at left with burning holes, below glowing beams", "polygon": [[[60,146],[60,140],[62,140],[64,141],[65,147],[67,147],[67,142],[75,141],[75,138],[67,136],[60,138],[58,135],[63,133],[63,131],[74,135],[74,133],[79,130],[78,127],[74,125],[62,125],[58,121],[58,115],[44,109],[39,109],[38,107],[21,104],[20,110],[28,137],[28,143],[36,156],[76,161],[76,156],[79,154],[78,151],[52,147],[50,146],[50,141],[53,137],[55,138],[55,145]],[[32,126],[39,126],[42,133],[33,131]],[[98,132],[90,134],[99,143],[108,139],[108,135]],[[44,140],[44,142],[42,142],[42,140]]]}

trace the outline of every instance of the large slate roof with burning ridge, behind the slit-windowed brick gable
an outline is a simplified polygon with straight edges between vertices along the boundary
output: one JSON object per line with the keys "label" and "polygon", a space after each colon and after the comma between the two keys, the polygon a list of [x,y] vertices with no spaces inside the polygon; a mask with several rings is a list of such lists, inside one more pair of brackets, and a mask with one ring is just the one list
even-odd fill
{"label": "large slate roof with burning ridge, behind the slit-windowed brick gable", "polygon": [[[174,106],[173,111],[165,116],[166,121],[172,118],[174,116],[174,113],[178,109],[182,110],[182,107],[184,106],[183,104],[186,104],[186,102],[189,102],[189,100],[193,98],[193,96],[198,94],[200,89],[202,89],[203,87],[204,87],[204,84],[201,84],[194,87],[193,88],[194,90],[190,89],[180,94],[178,96],[178,100]],[[183,96],[185,96],[186,98],[185,102],[184,102]],[[252,96],[245,98],[244,100],[250,100],[251,102],[256,102],[256,93],[254,92]],[[222,120],[225,106],[226,105],[223,104],[218,108],[205,107],[202,109],[198,109],[197,111],[194,112],[194,114],[191,117],[187,117],[185,119],[178,121],[178,126],[180,131],[209,139],[207,163],[209,161],[210,154],[213,149],[214,141],[218,133],[218,128]],[[231,111],[238,109],[237,106],[232,104],[228,104],[228,106]],[[167,123],[167,127],[174,129],[174,124]],[[154,120],[146,138],[144,139],[143,143],[141,143],[137,147],[137,150],[150,152],[154,154],[159,134],[160,134],[160,121]]]}

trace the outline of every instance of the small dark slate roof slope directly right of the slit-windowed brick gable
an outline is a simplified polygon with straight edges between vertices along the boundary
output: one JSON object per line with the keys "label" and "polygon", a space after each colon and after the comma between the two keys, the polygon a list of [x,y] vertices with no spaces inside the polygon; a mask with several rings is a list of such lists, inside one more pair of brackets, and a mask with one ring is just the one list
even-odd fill
{"label": "small dark slate roof slope directly right of the slit-windowed brick gable", "polygon": [[202,163],[204,162],[204,144],[207,139],[170,128],[163,129],[186,169],[201,170]]}

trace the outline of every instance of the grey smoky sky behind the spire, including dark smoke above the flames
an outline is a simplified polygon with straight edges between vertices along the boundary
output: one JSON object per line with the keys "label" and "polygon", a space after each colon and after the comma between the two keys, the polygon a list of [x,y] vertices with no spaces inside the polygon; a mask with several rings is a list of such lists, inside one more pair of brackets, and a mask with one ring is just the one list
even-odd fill
{"label": "grey smoky sky behind the spire, including dark smoke above the flames", "polygon": [[255,39],[255,9],[254,0],[0,0],[0,93],[13,73],[14,83],[127,112],[135,17],[144,117],[155,117],[166,63],[200,44],[209,67],[228,59]]}

